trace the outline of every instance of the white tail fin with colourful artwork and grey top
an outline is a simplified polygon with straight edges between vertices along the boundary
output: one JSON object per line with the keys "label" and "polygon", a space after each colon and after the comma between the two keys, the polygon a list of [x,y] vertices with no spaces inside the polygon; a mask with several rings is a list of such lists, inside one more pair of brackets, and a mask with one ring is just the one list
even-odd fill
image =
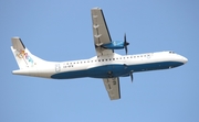
{"label": "white tail fin with colourful artwork and grey top", "polygon": [[11,51],[15,57],[20,69],[35,67],[36,64],[44,62],[43,59],[32,55],[29,49],[24,46],[21,38],[12,37]]}

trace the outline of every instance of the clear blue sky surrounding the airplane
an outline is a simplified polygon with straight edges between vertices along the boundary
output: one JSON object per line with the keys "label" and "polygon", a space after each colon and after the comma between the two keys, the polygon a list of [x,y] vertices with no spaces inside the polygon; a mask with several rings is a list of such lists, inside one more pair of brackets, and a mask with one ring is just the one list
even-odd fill
{"label": "clear blue sky surrounding the airplane", "polygon": [[[101,79],[15,76],[11,37],[46,60],[95,56],[91,9],[104,11],[113,41],[129,54],[175,51],[189,62],[121,78],[111,101]],[[198,122],[198,0],[0,0],[0,122]],[[124,55],[125,51],[116,51]]]}

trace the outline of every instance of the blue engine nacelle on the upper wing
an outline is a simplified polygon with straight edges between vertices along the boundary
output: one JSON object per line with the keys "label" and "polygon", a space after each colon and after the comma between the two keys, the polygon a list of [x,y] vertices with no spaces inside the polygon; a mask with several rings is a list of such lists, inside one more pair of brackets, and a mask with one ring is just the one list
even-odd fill
{"label": "blue engine nacelle on the upper wing", "polygon": [[125,47],[124,41],[113,41],[108,44],[102,44],[101,47],[108,48],[108,49],[122,49]]}

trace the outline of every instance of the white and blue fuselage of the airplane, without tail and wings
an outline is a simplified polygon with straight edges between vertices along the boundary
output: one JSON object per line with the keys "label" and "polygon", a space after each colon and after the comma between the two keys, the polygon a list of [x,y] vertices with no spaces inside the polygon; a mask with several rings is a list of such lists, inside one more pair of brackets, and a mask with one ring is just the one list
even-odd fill
{"label": "white and blue fuselage of the airplane, without tail and wings", "polygon": [[129,73],[167,69],[184,65],[187,58],[174,52],[157,52],[121,56],[106,55],[72,62],[42,62],[34,67],[14,70],[13,74],[53,79],[82,77],[125,77]]}

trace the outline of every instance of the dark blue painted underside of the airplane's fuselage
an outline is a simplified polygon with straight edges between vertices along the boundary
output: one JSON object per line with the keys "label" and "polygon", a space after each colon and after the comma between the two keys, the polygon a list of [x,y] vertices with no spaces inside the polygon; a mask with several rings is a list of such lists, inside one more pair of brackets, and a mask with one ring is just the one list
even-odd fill
{"label": "dark blue painted underside of the airplane's fuselage", "polygon": [[161,63],[150,63],[150,64],[139,64],[139,65],[122,65],[122,64],[111,64],[97,66],[86,70],[74,70],[74,71],[64,71],[57,73],[51,76],[53,79],[71,79],[71,78],[82,78],[82,77],[93,77],[93,78],[108,78],[111,75],[108,71],[112,71],[112,77],[121,77],[128,75],[130,70],[134,73],[137,71],[147,71],[156,69],[168,69],[169,67],[174,68],[182,65],[180,62],[161,62]]}

